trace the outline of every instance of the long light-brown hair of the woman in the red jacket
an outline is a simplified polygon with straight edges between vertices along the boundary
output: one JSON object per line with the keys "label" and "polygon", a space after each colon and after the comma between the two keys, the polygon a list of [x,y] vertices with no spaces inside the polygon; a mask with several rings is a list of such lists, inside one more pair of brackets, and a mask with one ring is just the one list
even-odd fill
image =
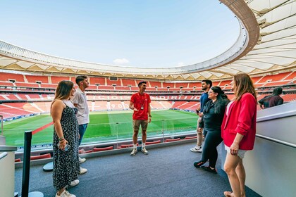
{"label": "long light-brown hair of the woman in the red jacket", "polygon": [[239,101],[242,98],[242,94],[250,93],[254,96],[257,101],[257,93],[254,88],[254,84],[251,80],[251,77],[245,73],[237,74],[233,77],[234,82],[234,94],[235,100]]}

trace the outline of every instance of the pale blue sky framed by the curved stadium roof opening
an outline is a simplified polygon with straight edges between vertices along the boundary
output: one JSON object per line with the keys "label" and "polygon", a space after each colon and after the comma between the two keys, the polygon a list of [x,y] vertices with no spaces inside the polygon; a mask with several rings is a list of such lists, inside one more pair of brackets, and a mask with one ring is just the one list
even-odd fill
{"label": "pale blue sky framed by the curved stadium roof opening", "polygon": [[1,1],[0,39],[92,63],[167,68],[232,46],[238,20],[217,0]]}

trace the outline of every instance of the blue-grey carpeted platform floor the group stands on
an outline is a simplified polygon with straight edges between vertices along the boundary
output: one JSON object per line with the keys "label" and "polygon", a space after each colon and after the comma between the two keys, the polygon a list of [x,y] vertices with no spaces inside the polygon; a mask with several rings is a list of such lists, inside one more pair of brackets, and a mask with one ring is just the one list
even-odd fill
{"label": "blue-grey carpeted platform floor the group stands on", "polygon": [[[80,184],[70,188],[76,196],[223,196],[230,191],[225,172],[218,158],[218,174],[197,169],[193,163],[202,157],[192,153],[194,143],[179,144],[147,150],[149,155],[138,152],[87,158],[82,167]],[[218,147],[220,153],[220,146]],[[206,164],[207,165],[207,164]],[[43,165],[30,168],[30,191],[41,191],[44,196],[55,196],[52,172],[44,172]],[[16,191],[21,192],[22,168],[16,169]],[[249,188],[247,196],[257,197]]]}

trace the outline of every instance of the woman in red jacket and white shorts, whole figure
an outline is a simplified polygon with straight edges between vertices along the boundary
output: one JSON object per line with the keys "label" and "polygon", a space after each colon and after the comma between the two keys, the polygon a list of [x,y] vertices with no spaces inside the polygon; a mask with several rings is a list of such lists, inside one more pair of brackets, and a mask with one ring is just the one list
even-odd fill
{"label": "woman in red jacket and white shorts, whole figure", "polygon": [[224,170],[233,192],[224,196],[245,197],[245,168],[242,158],[254,147],[257,117],[257,95],[249,75],[242,73],[233,77],[235,98],[224,114],[221,134],[227,151]]}

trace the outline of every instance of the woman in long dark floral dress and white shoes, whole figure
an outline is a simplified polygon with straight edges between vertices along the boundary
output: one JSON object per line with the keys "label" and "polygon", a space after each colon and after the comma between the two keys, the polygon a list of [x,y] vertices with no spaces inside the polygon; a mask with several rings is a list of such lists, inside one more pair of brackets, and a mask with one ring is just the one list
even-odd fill
{"label": "woman in long dark floral dress and white shoes, whole figure", "polygon": [[51,116],[54,121],[54,187],[56,197],[71,196],[66,186],[78,179],[80,165],[78,160],[78,121],[77,109],[70,101],[75,92],[74,84],[61,81],[56,88],[54,101],[51,103]]}

